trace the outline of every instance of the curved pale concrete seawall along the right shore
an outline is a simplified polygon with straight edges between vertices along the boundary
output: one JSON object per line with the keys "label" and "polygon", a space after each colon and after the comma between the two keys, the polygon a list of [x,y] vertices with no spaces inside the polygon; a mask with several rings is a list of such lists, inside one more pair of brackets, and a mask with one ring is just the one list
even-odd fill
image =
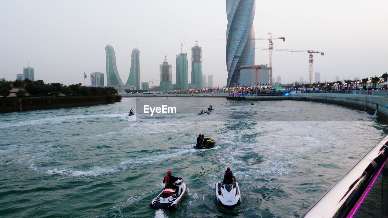
{"label": "curved pale concrete seawall along the right shore", "polygon": [[388,123],[388,109],[386,108],[388,105],[388,95],[371,95],[368,92],[362,92],[360,94],[298,92],[295,95],[288,96],[247,96],[245,97],[245,100],[300,100],[325,102],[354,107],[372,114],[378,110],[377,116]]}

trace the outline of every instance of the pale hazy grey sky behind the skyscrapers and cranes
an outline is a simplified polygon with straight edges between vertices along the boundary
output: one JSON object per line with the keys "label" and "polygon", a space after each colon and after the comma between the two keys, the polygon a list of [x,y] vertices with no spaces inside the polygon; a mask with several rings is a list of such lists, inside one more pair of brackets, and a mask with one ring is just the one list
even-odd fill
{"label": "pale hazy grey sky behind the skyscrapers and cranes", "polygon": [[[388,72],[387,9],[387,0],[256,0],[253,26],[256,38],[286,37],[274,40],[275,49],[324,52],[314,54],[313,81],[314,72],[321,82],[361,79]],[[108,43],[123,83],[137,46],[141,82],[159,80],[167,54],[175,83],[175,59],[186,38],[189,80],[191,47],[198,40],[203,75],[213,74],[213,85],[223,87],[226,42],[215,39],[225,38],[226,27],[225,0],[0,0],[0,78],[16,80],[29,62],[35,80],[83,83],[85,72],[90,85],[90,73],[106,77]],[[266,48],[268,41],[256,40],[256,47]],[[308,55],[274,51],[274,80],[279,75],[282,83],[308,80]],[[269,51],[256,50],[255,58],[256,64],[269,64]]]}

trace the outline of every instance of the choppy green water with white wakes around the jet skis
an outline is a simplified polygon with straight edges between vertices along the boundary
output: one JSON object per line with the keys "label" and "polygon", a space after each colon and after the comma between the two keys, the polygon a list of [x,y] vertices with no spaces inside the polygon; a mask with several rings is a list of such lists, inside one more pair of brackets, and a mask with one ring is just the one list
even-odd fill
{"label": "choppy green water with white wakes around the jet skis", "polygon": [[[128,117],[116,104],[0,114],[2,217],[299,217],[387,133],[379,118],[315,102],[250,106],[223,98],[147,98],[178,114]],[[196,116],[212,104],[208,116]],[[201,107],[202,106],[202,107]],[[203,133],[212,149],[189,149]],[[230,167],[242,203],[215,201]],[[188,193],[175,211],[150,201],[167,170]]]}

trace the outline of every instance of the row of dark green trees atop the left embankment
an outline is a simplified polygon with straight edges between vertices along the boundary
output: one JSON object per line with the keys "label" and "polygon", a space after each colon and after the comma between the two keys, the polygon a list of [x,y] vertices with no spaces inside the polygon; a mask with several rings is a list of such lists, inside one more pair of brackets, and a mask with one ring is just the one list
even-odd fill
{"label": "row of dark green trees atop the left embankment", "polygon": [[113,87],[85,87],[81,83],[72,84],[69,86],[61,83],[45,84],[43,80],[31,81],[29,79],[5,81],[0,80],[0,95],[7,97],[10,95],[10,90],[19,88],[16,92],[17,97],[24,97],[26,93],[31,96],[59,96],[60,93],[64,95],[115,95],[117,90]]}

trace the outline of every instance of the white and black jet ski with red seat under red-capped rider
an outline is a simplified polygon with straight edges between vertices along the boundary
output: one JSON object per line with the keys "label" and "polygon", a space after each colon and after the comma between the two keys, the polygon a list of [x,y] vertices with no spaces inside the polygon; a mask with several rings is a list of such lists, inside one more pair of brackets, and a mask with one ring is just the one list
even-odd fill
{"label": "white and black jet ski with red seat under red-capped rider", "polygon": [[187,186],[182,180],[177,180],[174,185],[178,186],[178,197],[175,189],[164,188],[160,194],[155,197],[149,206],[153,209],[176,209],[185,196]]}

